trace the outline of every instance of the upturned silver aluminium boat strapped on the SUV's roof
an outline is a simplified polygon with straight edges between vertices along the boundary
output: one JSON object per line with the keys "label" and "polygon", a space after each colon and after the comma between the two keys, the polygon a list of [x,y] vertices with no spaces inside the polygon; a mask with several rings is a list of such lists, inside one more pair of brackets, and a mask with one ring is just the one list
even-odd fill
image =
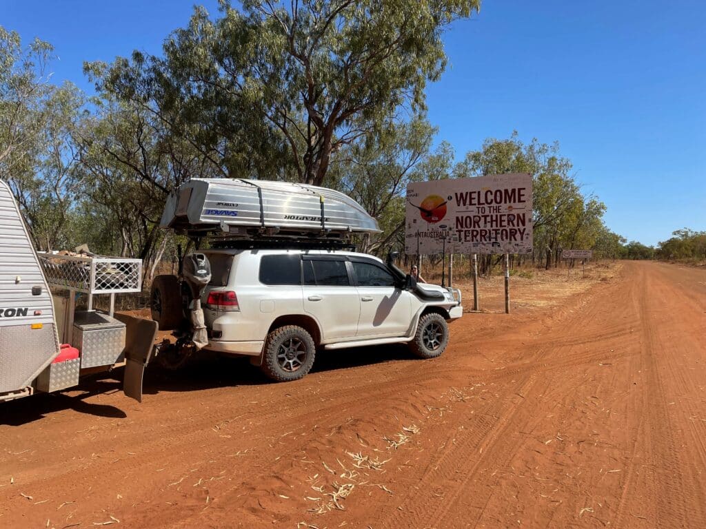
{"label": "upturned silver aluminium boat strapped on the SUV's roof", "polygon": [[[378,222],[338,191],[305,184],[192,178],[169,196],[160,225],[191,238],[345,241],[380,233]],[[250,243],[252,244],[252,243]]]}

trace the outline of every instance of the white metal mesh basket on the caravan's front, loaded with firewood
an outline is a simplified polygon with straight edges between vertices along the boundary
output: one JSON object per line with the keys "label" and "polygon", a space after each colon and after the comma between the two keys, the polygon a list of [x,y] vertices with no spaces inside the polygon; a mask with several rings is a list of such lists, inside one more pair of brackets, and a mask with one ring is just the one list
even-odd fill
{"label": "white metal mesh basket on the caravan's front, loaded with firewood", "polygon": [[40,254],[50,286],[88,294],[142,291],[142,260]]}

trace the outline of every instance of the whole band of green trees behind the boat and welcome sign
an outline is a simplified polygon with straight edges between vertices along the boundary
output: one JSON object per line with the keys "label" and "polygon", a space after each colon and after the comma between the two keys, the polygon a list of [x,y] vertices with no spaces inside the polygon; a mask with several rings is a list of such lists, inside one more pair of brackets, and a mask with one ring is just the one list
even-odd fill
{"label": "whole band of green trees behind the boat and welcome sign", "polygon": [[[654,249],[606,229],[605,205],[581,192],[556,142],[513,133],[457,164],[448,142],[431,150],[437,131],[424,87],[445,68],[441,35],[478,8],[477,0],[245,1],[224,2],[215,19],[196,8],[163,56],[85,64],[99,93],[90,102],[73,85],[48,83],[49,44],[23,47],[0,28],[0,177],[40,248],[88,243],[148,269],[174,252],[160,215],[193,176],[342,190],[383,229],[360,248],[383,253],[403,246],[407,183],[527,172],[535,262],[556,265],[569,248],[652,258]],[[674,235],[659,256],[706,254],[705,233]]]}

